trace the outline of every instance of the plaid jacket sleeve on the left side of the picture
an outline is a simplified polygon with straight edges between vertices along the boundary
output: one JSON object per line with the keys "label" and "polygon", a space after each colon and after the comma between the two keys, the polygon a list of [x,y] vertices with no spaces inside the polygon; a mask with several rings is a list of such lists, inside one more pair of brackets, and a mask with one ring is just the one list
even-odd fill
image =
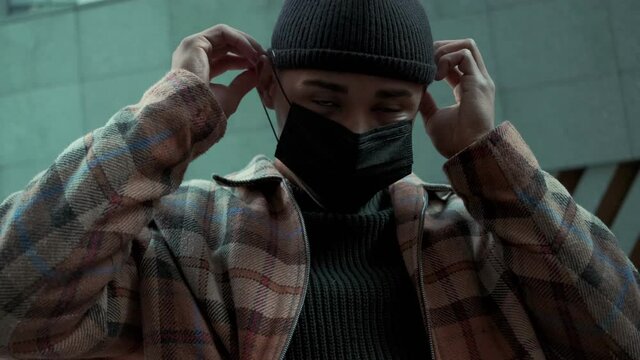
{"label": "plaid jacket sleeve on the left side of the picture", "polygon": [[140,345],[136,259],[154,206],[226,121],[208,84],[172,71],[0,204],[0,355],[112,357]]}

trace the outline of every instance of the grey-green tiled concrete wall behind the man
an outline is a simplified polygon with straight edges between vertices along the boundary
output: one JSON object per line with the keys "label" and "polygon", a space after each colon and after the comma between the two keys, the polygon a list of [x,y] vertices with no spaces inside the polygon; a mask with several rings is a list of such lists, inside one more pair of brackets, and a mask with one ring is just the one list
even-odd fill
{"label": "grey-green tiled concrete wall behind the man", "polygon": [[[512,121],[543,167],[606,167],[640,158],[639,1],[424,2],[436,39],[477,41],[498,86],[498,122]],[[0,20],[0,197],[136,102],[169,69],[180,39],[224,22],[268,46],[280,4],[124,0]],[[431,89],[440,104],[452,103],[445,84]],[[443,159],[420,124],[414,137],[415,171],[446,181]],[[227,136],[187,176],[228,173],[274,148],[253,92]]]}

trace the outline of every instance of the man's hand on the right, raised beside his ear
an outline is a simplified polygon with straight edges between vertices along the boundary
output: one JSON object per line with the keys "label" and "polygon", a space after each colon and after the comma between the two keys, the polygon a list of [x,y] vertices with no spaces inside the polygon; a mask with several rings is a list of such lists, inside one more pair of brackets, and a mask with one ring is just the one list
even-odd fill
{"label": "man's hand on the right, raised beside his ear", "polygon": [[495,85],[472,39],[436,41],[434,49],[435,80],[447,80],[456,104],[438,108],[425,92],[420,112],[434,146],[450,158],[493,129]]}

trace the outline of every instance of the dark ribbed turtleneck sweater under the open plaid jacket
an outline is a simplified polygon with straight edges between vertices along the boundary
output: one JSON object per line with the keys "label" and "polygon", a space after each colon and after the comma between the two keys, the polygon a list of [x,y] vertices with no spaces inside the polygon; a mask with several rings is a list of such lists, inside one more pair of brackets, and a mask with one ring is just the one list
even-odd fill
{"label": "dark ribbed turtleneck sweater under the open plaid jacket", "polygon": [[299,188],[294,196],[311,246],[311,269],[286,359],[428,359],[388,192],[353,213],[323,211]]}

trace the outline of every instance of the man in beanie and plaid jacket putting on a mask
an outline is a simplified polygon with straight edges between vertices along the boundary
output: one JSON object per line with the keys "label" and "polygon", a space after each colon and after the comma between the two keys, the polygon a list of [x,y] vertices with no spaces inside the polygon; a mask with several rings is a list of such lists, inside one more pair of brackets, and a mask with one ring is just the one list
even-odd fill
{"label": "man in beanie and plaid jacket putting on a mask", "polygon": [[[181,185],[255,87],[276,160]],[[288,0],[269,51],[225,25],[186,38],[138,104],[0,206],[0,349],[640,358],[637,270],[494,128],[494,92],[474,42],[432,43],[415,0]],[[410,174],[418,113],[452,187]]]}

